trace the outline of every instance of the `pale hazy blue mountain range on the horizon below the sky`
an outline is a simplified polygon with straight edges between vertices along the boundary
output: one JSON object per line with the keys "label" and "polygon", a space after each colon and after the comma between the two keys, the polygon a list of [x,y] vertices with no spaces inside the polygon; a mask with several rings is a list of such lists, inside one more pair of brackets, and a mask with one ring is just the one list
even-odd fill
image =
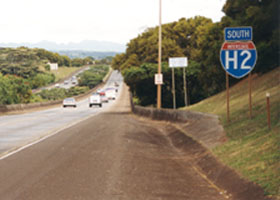
{"label": "pale hazy blue mountain range on the horizon below the sky", "polygon": [[84,40],[79,43],[55,43],[50,41],[41,41],[38,43],[0,43],[0,47],[29,47],[29,48],[43,48],[49,51],[95,51],[95,52],[124,52],[125,45],[108,42],[108,41],[95,41]]}

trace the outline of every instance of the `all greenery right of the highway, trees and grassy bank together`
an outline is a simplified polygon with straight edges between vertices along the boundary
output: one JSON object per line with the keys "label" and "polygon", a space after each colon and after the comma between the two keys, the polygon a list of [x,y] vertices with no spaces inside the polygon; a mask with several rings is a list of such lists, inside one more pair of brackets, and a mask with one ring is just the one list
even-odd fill
{"label": "all greenery right of the highway, trees and grassy bank together", "polygon": [[[197,16],[162,25],[162,107],[171,108],[170,57],[188,57],[188,109],[220,116],[228,141],[214,153],[242,176],[280,199],[280,18],[279,1],[227,0],[220,22]],[[248,118],[246,77],[230,77],[231,122],[226,123],[225,71],[220,63],[224,28],[252,26],[258,51],[252,71],[253,118]],[[142,106],[156,105],[154,75],[158,63],[158,27],[148,28],[127,44],[112,61],[122,72],[133,99]],[[175,69],[176,105],[184,107],[182,69]],[[222,92],[222,93],[221,93]],[[266,92],[271,94],[272,129],[267,128]],[[200,102],[200,103],[198,103]]]}

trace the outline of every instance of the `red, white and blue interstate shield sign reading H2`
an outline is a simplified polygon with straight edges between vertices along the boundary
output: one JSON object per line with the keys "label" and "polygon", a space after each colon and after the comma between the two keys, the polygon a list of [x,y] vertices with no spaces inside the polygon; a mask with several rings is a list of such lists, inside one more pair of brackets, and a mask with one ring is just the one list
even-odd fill
{"label": "red, white and blue interstate shield sign reading H2", "polygon": [[220,59],[223,68],[233,77],[242,78],[249,74],[257,61],[257,50],[252,41],[225,42]]}

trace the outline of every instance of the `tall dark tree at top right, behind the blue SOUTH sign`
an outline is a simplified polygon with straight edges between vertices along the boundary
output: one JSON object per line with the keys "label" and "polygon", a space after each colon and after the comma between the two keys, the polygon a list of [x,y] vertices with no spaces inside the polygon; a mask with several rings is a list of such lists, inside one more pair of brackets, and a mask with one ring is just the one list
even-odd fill
{"label": "tall dark tree at top right, behind the blue SOUTH sign", "polygon": [[231,26],[252,26],[258,50],[255,72],[266,72],[280,65],[279,0],[227,0],[223,11]]}

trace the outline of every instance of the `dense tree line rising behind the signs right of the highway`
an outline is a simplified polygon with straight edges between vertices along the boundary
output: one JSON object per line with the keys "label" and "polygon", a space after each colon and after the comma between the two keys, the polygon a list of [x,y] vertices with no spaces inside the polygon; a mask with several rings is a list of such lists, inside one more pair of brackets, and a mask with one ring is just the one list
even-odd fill
{"label": "dense tree line rising behind the signs right of the highway", "polygon": [[[279,66],[278,0],[227,0],[223,11],[226,16],[217,23],[197,16],[162,26],[164,107],[172,106],[171,72],[167,67],[169,57],[186,56],[189,59],[186,78],[190,103],[225,88],[225,72],[219,60],[225,27],[253,27],[253,41],[258,50],[258,61],[253,72],[264,73]],[[132,39],[127,44],[126,52],[116,55],[112,61],[112,67],[122,71],[133,95],[142,105],[155,104],[156,87],[153,79],[157,59],[158,27],[154,27]],[[183,106],[182,70],[175,69],[175,72],[177,105]],[[234,84],[237,81],[231,79],[230,82]]]}

